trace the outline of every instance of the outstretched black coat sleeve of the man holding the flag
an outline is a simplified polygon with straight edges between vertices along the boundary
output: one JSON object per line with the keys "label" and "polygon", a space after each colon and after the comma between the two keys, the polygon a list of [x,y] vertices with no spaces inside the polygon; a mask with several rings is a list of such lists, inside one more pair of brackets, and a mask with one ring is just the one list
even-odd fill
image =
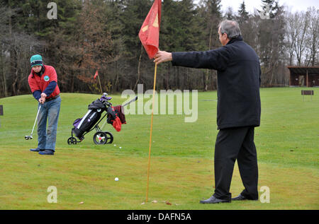
{"label": "outstretched black coat sleeve of the man holding the flag", "polygon": [[173,52],[172,59],[173,66],[224,71],[230,61],[230,51],[220,47],[206,52]]}

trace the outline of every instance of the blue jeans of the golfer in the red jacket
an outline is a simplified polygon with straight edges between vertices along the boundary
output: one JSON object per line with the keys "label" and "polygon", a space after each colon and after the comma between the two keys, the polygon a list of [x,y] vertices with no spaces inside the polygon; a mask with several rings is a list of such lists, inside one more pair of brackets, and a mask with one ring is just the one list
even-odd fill
{"label": "blue jeans of the golfer in the red jacket", "polygon": [[38,115],[38,148],[55,151],[55,141],[57,139],[57,119],[59,119],[60,107],[60,97],[41,105]]}

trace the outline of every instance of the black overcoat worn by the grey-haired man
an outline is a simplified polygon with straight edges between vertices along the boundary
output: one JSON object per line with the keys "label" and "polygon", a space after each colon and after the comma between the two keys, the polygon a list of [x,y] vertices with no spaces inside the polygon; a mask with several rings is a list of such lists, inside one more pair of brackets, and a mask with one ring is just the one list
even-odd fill
{"label": "black overcoat worn by the grey-haired man", "polygon": [[209,51],[173,52],[172,59],[173,66],[217,70],[218,129],[260,125],[259,57],[242,37]]}

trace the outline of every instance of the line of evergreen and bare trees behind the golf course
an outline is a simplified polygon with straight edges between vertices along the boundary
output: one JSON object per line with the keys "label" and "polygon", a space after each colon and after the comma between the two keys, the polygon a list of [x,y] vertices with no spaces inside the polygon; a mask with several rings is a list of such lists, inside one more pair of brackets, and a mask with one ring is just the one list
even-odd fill
{"label": "line of evergreen and bare trees behind the golf course", "polygon": [[[62,92],[99,93],[153,85],[154,63],[138,38],[152,0],[0,0],[0,97],[30,93],[30,57],[55,67]],[[318,66],[318,9],[291,13],[276,0],[261,10],[221,10],[220,0],[164,0],[159,48],[169,52],[220,47],[218,23],[237,20],[245,42],[259,55],[262,86],[286,86],[286,66]],[[216,71],[160,64],[157,89],[216,90]]]}

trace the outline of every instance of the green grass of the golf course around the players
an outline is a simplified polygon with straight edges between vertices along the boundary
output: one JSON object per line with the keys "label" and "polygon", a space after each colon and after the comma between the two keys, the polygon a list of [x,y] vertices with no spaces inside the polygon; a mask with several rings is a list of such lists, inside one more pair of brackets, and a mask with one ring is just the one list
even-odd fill
{"label": "green grass of the golf course around the players", "polygon": [[[315,91],[312,100],[303,101],[302,89]],[[262,124],[255,129],[255,144],[259,189],[269,187],[270,203],[199,204],[214,190],[216,92],[198,93],[194,123],[184,122],[185,114],[154,115],[144,204],[151,116],[128,114],[120,132],[107,124],[103,130],[112,132],[112,144],[95,145],[91,131],[82,143],[69,146],[74,119],[83,117],[99,95],[61,95],[54,156],[29,151],[38,143],[36,128],[33,140],[24,139],[37,112],[33,96],[0,99],[0,209],[319,209],[319,88],[261,89]],[[113,105],[126,100],[111,96]],[[47,202],[50,186],[57,187],[57,203]],[[242,189],[235,164],[230,191],[237,196]]]}

